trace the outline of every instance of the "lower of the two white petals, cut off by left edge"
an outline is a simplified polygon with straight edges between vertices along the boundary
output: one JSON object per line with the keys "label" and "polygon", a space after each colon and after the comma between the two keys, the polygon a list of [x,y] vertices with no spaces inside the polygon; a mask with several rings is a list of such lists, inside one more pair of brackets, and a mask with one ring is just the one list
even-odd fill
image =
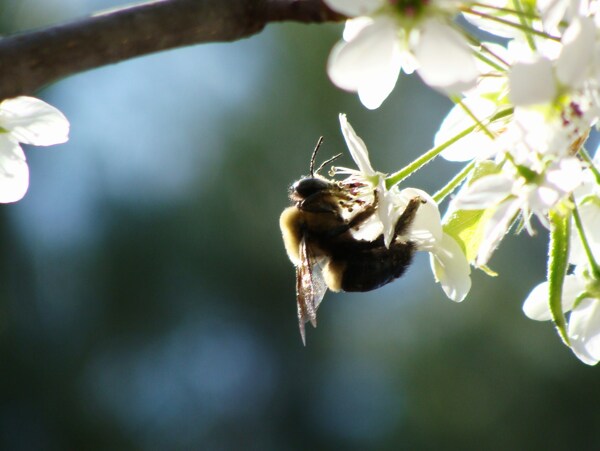
{"label": "lower of the two white petals, cut off by left edge", "polygon": [[0,203],[21,200],[29,187],[29,167],[21,146],[0,134]]}

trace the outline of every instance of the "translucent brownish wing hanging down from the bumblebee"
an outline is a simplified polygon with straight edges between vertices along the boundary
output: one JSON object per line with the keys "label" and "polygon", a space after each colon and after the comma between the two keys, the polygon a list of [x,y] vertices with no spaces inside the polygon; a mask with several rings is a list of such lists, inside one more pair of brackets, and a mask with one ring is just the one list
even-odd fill
{"label": "translucent brownish wing hanging down from the bumblebee", "polygon": [[323,278],[325,263],[325,258],[315,257],[311,247],[303,238],[300,241],[300,264],[296,267],[296,301],[300,335],[305,346],[304,324],[310,321],[313,327],[317,327],[317,308],[327,291],[327,284]]}

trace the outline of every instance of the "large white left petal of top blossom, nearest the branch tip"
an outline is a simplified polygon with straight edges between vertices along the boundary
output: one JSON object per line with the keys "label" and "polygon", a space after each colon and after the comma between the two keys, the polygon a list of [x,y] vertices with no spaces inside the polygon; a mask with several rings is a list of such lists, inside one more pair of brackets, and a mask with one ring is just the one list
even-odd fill
{"label": "large white left petal of top blossom, nearest the branch tip", "polygon": [[327,73],[336,86],[358,92],[364,106],[376,109],[396,85],[400,53],[393,18],[379,17],[351,41],[333,47]]}

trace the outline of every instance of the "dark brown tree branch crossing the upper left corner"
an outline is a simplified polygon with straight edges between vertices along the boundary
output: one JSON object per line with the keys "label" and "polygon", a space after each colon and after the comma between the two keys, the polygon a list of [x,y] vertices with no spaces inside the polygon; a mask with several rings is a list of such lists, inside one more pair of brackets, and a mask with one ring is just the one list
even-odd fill
{"label": "dark brown tree branch crossing the upper left corner", "polygon": [[0,99],[136,56],[243,39],[269,22],[341,19],[322,0],[155,0],[0,39]]}

